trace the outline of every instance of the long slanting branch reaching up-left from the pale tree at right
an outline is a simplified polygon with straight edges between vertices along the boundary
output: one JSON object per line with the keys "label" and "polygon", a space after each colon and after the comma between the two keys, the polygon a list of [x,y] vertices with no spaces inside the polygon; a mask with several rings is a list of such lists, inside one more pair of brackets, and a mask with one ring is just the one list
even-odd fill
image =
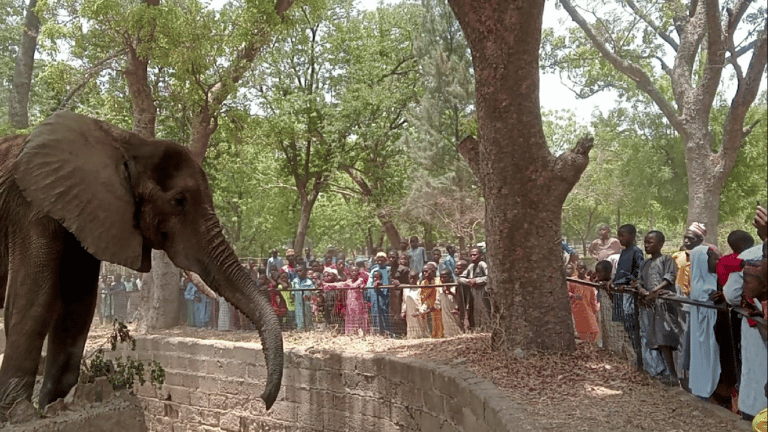
{"label": "long slanting branch reaching up-left from the pale tree at right", "polygon": [[589,25],[586,20],[584,20],[576,8],[573,7],[573,4],[571,4],[570,0],[560,0],[560,4],[563,5],[563,8],[565,8],[565,10],[568,12],[568,15],[571,16],[571,19],[573,19],[573,21],[576,22],[579,27],[581,27],[581,29],[587,35],[589,40],[592,41],[592,44],[603,56],[603,58],[608,60],[608,62],[610,62],[616,68],[616,70],[634,81],[640,90],[647,93],[651,100],[653,100],[659,107],[661,112],[664,113],[664,116],[667,118],[667,120],[669,120],[672,126],[678,131],[682,131],[683,124],[676,110],[661,94],[659,89],[653,85],[651,78],[645,73],[645,71],[643,71],[639,66],[620,58],[618,55],[616,55],[616,53],[610,50],[605,45],[605,43],[597,37],[594,30],[592,29],[592,26]]}

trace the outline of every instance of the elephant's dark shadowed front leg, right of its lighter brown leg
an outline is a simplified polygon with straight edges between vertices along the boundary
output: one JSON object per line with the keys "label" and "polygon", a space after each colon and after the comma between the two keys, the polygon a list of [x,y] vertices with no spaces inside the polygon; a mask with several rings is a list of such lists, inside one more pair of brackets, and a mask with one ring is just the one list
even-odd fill
{"label": "elephant's dark shadowed front leg, right of its lighter brown leg", "polygon": [[65,397],[77,384],[80,361],[96,308],[100,264],[72,234],[65,234],[59,270],[61,310],[48,333],[45,376],[40,389],[41,408]]}

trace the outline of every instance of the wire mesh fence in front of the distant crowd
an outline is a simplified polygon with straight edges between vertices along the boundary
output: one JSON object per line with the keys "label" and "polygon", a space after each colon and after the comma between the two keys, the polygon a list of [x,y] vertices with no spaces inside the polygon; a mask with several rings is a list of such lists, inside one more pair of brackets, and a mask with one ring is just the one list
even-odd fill
{"label": "wire mesh fence in front of the distant crowd", "polygon": [[[453,335],[457,333],[457,329],[464,331],[471,322],[469,314],[461,310],[464,309],[461,305],[468,303],[463,298],[455,302],[449,299],[447,302],[444,301],[444,304],[439,302],[440,291],[456,286],[456,283],[445,283],[330,290],[269,289],[265,294],[269,296],[280,319],[281,328],[286,332],[327,331],[349,335],[378,334],[396,338],[409,335],[410,337],[441,337]],[[421,297],[419,299],[421,304],[408,300],[406,290],[419,290],[417,294],[411,293],[410,298],[412,299],[414,295]],[[405,310],[402,309],[404,295],[406,295]],[[452,296],[459,297],[460,294],[452,294]],[[195,308],[200,317],[197,321]],[[443,309],[447,310],[444,312]],[[222,331],[253,328],[242,313],[220,298],[216,300],[203,298],[201,301],[184,300],[181,317],[181,321],[189,326]]]}

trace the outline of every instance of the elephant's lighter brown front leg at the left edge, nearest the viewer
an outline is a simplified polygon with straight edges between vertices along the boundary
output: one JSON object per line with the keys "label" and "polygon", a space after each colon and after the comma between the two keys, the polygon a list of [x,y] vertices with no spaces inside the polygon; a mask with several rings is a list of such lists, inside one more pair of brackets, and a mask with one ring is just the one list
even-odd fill
{"label": "elephant's lighter brown front leg at the left edge, nearest the viewer", "polygon": [[9,229],[8,283],[5,299],[6,346],[0,366],[0,421],[21,399],[31,399],[37,366],[51,317],[61,307],[59,260],[61,226],[53,219],[25,221]]}

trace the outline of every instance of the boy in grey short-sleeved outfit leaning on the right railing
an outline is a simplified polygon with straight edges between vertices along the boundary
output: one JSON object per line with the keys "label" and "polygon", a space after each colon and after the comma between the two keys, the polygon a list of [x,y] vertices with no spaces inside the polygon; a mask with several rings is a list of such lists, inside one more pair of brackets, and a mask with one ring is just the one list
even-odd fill
{"label": "boy in grey short-sleeved outfit leaning on the right railing", "polygon": [[[643,241],[645,253],[651,257],[643,263],[640,270],[638,289],[640,296],[649,303],[648,307],[641,311],[640,331],[645,340],[645,369],[652,376],[664,374],[662,381],[665,384],[678,386],[680,381],[672,357],[672,351],[680,344],[678,311],[673,303],[654,301],[665,293],[675,293],[677,265],[671,256],[661,254],[664,241],[664,234],[659,231],[648,232]],[[651,352],[646,354],[645,348]],[[658,355],[661,356],[663,364],[657,365],[660,363],[657,361]]]}

